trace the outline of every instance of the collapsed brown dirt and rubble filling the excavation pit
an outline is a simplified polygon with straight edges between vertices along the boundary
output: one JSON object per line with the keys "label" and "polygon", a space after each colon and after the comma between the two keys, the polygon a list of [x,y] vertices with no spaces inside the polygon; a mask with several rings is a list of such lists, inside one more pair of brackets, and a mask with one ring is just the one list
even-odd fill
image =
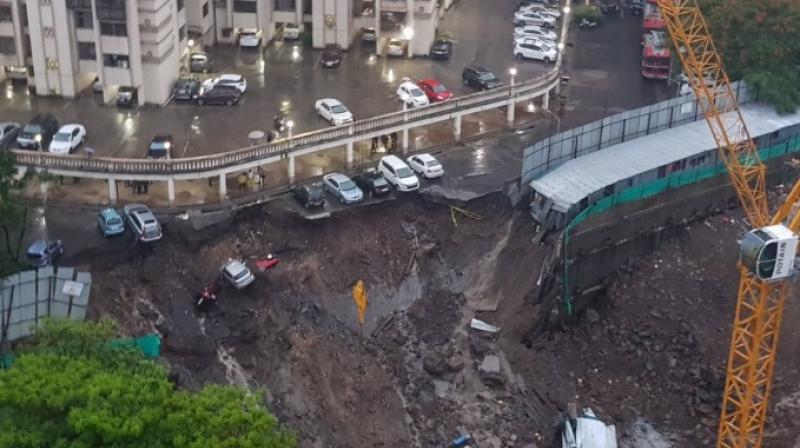
{"label": "collapsed brown dirt and rubble filling the excavation pit", "polygon": [[[267,204],[197,234],[180,224],[149,250],[80,254],[93,275],[92,316],[129,334],[158,331],[183,387],[264,390],[300,446],[439,447],[469,432],[482,448],[547,446],[558,411],[591,406],[621,446],[704,446],[715,437],[741,218],[688,228],[632,260],[608,297],[562,331],[525,336],[550,249],[500,194],[459,204],[402,198],[305,221]],[[191,295],[220,263],[281,263],[243,291],[223,288],[198,313]],[[369,295],[360,327],[351,289]],[[800,309],[790,303],[765,446],[791,446]],[[471,328],[473,319],[502,329]],[[526,343],[523,343],[525,341]],[[793,395],[794,394],[794,395]],[[794,397],[794,398],[792,398]],[[644,442],[642,442],[644,443]],[[646,445],[645,445],[646,446]]]}

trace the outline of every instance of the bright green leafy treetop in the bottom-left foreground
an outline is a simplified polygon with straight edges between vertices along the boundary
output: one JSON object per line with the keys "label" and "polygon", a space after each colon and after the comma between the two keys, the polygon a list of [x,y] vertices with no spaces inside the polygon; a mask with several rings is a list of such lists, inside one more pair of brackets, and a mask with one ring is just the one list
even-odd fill
{"label": "bright green leafy treetop in the bottom-left foreground", "polygon": [[0,371],[0,447],[293,448],[254,395],[175,390],[160,364],[111,348],[113,324],[51,322]]}

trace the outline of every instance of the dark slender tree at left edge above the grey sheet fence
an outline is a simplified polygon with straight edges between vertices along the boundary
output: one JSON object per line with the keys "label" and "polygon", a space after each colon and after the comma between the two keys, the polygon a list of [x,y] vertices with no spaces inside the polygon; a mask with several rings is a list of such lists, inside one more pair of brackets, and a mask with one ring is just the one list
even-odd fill
{"label": "dark slender tree at left edge above the grey sheet fence", "polygon": [[17,178],[14,155],[0,150],[0,277],[17,272],[28,207],[20,197],[24,182]]}

